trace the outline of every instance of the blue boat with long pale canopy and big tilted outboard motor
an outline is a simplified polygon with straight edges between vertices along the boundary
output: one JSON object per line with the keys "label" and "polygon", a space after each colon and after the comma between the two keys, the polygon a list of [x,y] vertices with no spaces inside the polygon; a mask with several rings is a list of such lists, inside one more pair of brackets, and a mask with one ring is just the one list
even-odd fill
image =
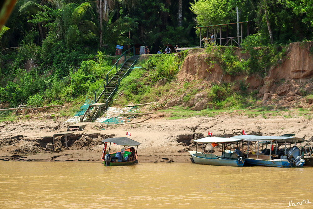
{"label": "blue boat with long pale canopy and big tilted outboard motor", "polygon": [[[247,153],[244,154],[247,164],[283,168],[302,167],[304,165],[305,161],[302,159],[300,149],[295,146],[296,143],[306,142],[304,139],[292,136],[255,135],[240,135],[230,138],[247,142]],[[254,142],[254,152],[249,153],[251,142]],[[287,144],[290,145],[289,149]],[[292,144],[295,145],[291,147]],[[262,146],[261,152],[259,152],[260,145]],[[284,148],[279,148],[281,145],[285,145]]]}

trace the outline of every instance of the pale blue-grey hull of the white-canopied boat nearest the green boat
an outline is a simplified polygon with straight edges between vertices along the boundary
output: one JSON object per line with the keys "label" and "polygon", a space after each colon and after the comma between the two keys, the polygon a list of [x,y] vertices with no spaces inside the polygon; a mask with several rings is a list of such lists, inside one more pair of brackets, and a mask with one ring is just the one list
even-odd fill
{"label": "pale blue-grey hull of the white-canopied boat nearest the green boat", "polygon": [[194,154],[191,154],[191,157],[193,161],[197,164],[204,164],[204,165],[220,165],[220,166],[236,166],[236,167],[242,167],[245,159],[243,159],[243,162],[240,160],[235,159],[210,159],[210,158],[199,158]]}

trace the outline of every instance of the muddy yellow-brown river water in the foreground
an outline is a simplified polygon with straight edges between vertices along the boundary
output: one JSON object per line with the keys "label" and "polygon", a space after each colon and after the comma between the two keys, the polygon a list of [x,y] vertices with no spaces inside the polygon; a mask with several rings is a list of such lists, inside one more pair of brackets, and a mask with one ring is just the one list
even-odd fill
{"label": "muddy yellow-brown river water in the foreground", "polygon": [[312,179],[313,167],[0,162],[0,208],[312,208]]}

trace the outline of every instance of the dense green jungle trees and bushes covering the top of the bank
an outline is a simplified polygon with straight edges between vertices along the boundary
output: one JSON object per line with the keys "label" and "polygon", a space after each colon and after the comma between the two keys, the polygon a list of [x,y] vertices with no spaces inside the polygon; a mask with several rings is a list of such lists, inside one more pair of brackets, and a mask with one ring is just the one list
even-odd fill
{"label": "dense green jungle trees and bushes covering the top of the bank", "polygon": [[[196,26],[237,20],[251,21],[252,35],[240,40],[250,59],[241,62],[232,47],[218,46],[215,62],[229,74],[266,73],[287,44],[312,40],[312,6],[308,0],[18,0],[0,31],[0,103],[38,106],[85,98],[111,69],[116,45],[145,45],[151,53],[166,44],[199,46]],[[236,24],[227,30],[229,37],[237,36]],[[218,37],[219,27],[209,32]],[[212,47],[206,51],[212,53]],[[152,62],[146,65],[159,69],[155,81],[175,77],[176,68],[163,72],[167,68]]]}

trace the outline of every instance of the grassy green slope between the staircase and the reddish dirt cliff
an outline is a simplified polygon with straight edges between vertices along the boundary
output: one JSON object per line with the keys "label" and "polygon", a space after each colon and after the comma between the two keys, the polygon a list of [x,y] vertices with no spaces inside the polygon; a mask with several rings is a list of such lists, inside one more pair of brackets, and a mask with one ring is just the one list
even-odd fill
{"label": "grassy green slope between the staircase and the reddish dirt cliff", "polygon": [[175,79],[183,59],[183,55],[172,54],[149,56],[148,60],[139,64],[141,68],[134,69],[121,81],[113,105],[128,105],[130,101],[137,104],[158,101],[173,88],[170,82]]}

